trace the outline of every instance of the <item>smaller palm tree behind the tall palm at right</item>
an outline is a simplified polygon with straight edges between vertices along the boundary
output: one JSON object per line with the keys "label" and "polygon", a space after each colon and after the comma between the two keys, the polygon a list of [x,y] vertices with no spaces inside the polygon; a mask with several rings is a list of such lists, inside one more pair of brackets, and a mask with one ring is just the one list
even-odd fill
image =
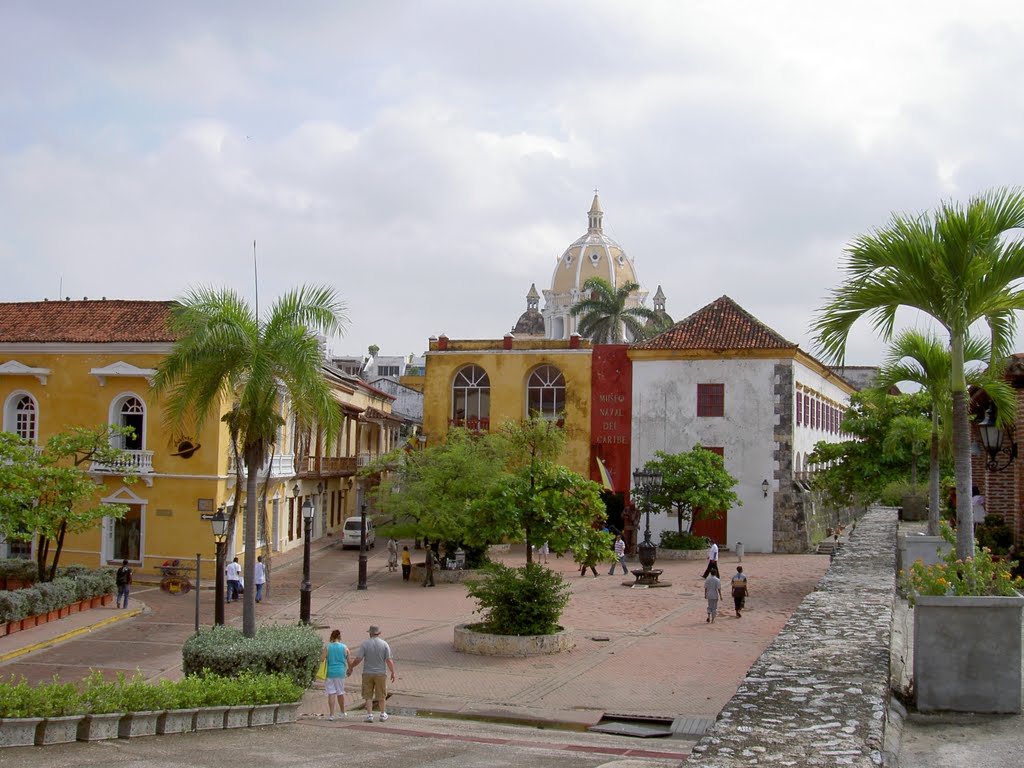
{"label": "smaller palm tree behind the tall palm at right", "polygon": [[[965,362],[984,361],[988,358],[988,344],[977,337],[969,336],[964,343]],[[876,387],[881,391],[888,391],[898,384],[910,382],[920,386],[921,391],[929,398],[931,444],[928,462],[928,532],[930,536],[939,535],[939,451],[942,434],[949,431],[952,415],[949,397],[951,375],[952,357],[949,345],[934,333],[908,330],[902,331],[893,339],[876,381]],[[966,372],[966,379],[968,383],[977,384],[983,381],[983,375],[979,370],[969,369]],[[990,388],[993,392],[1005,394],[1005,389],[1000,389],[997,385]],[[913,478],[912,481],[915,483],[916,479]]]}

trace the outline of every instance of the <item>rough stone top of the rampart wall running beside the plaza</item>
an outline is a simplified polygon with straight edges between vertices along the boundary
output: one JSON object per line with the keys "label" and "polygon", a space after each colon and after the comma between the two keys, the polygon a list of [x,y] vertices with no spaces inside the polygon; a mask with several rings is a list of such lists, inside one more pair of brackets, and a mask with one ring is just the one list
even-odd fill
{"label": "rough stone top of the rampart wall running beside the plaza", "polygon": [[686,764],[881,765],[895,575],[896,515],[874,509]]}

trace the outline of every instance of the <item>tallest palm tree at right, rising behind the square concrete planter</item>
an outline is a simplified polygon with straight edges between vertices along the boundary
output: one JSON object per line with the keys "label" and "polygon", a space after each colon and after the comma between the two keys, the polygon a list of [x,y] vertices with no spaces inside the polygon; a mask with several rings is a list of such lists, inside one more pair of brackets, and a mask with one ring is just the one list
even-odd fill
{"label": "tallest palm tree at right, rising behind the square concrete planter", "polygon": [[845,357],[851,328],[865,315],[886,341],[900,307],[931,315],[949,335],[961,558],[974,555],[965,344],[971,326],[985,321],[992,359],[1011,351],[1015,312],[1024,308],[1024,291],[1017,287],[1024,279],[1024,246],[1006,236],[1021,227],[1024,190],[1018,187],[986,193],[966,206],[944,203],[934,215],[894,214],[847,248],[846,278],[811,326],[822,356],[836,362]]}

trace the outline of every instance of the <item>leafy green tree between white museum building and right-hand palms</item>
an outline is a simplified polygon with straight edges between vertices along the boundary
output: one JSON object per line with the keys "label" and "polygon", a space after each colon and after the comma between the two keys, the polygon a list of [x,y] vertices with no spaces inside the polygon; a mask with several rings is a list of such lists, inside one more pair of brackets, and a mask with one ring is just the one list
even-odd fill
{"label": "leafy green tree between white museum building and right-hand palms", "polygon": [[870,504],[887,485],[905,481],[905,456],[881,451],[894,420],[921,420],[928,414],[928,395],[922,392],[890,395],[878,390],[855,392],[843,416],[842,430],[851,438],[842,442],[819,442],[808,456],[815,467],[811,484],[827,504]]}

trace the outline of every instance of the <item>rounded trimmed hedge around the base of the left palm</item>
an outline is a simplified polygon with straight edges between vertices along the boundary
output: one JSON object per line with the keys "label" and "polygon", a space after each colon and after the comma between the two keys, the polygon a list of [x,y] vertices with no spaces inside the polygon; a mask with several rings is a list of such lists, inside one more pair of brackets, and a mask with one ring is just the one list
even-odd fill
{"label": "rounded trimmed hedge around the base of the left palm", "polygon": [[305,689],[316,675],[323,648],[316,631],[302,625],[261,627],[254,638],[233,627],[213,627],[185,641],[182,670],[185,675],[211,672],[223,677],[281,673]]}

